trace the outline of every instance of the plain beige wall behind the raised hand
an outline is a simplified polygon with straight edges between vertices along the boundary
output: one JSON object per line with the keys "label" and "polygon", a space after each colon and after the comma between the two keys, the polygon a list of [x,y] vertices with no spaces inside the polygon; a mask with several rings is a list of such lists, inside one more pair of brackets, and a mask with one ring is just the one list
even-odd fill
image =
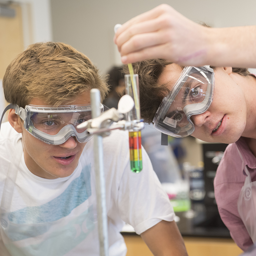
{"label": "plain beige wall behind the raised hand", "polygon": [[172,5],[191,20],[204,21],[213,27],[256,25],[255,0],[50,0],[50,3],[53,40],[71,44],[103,72],[117,62],[113,43],[115,24],[162,3]]}

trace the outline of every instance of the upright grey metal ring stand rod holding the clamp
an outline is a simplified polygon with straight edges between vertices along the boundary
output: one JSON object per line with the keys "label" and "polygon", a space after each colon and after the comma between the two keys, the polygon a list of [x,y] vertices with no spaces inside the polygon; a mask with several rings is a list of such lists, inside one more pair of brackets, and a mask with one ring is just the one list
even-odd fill
{"label": "upright grey metal ring stand rod holding the clamp", "polygon": [[[90,94],[92,104],[92,118],[96,118],[100,116],[100,91],[98,89],[92,89],[90,91]],[[103,163],[103,144],[102,136],[98,134],[94,135],[93,153],[95,165],[100,256],[108,256],[108,221],[106,207],[106,186]]]}

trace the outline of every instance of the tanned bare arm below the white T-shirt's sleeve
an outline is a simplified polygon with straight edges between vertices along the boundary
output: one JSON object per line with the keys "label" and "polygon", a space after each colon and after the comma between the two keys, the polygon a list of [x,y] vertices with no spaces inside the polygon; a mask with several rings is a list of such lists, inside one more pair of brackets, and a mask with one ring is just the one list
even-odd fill
{"label": "tanned bare arm below the white T-shirt's sleeve", "polygon": [[162,220],[140,236],[155,256],[188,256],[175,221]]}

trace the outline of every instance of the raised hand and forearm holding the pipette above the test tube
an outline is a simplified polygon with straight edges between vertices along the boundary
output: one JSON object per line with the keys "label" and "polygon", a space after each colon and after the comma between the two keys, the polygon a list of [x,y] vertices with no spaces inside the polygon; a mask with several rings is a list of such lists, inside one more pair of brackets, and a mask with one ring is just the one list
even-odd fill
{"label": "raised hand and forearm holding the pipette above the test tube", "polygon": [[166,59],[185,66],[256,68],[256,26],[208,28],[167,4],[124,23],[114,42],[124,64]]}

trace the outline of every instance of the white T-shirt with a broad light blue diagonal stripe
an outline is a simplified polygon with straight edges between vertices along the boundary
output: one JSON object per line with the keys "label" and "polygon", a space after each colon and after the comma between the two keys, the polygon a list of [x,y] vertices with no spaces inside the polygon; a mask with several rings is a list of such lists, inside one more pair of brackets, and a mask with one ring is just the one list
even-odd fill
{"label": "white T-shirt with a broad light blue diagonal stripe", "polygon": [[[174,219],[168,196],[143,148],[142,171],[130,171],[128,141],[128,132],[119,130],[103,138],[110,256],[126,254],[120,234],[125,222],[141,234],[161,220]],[[99,255],[93,139],[85,145],[75,171],[65,178],[34,175],[22,151],[21,134],[9,123],[2,124],[0,255]]]}

